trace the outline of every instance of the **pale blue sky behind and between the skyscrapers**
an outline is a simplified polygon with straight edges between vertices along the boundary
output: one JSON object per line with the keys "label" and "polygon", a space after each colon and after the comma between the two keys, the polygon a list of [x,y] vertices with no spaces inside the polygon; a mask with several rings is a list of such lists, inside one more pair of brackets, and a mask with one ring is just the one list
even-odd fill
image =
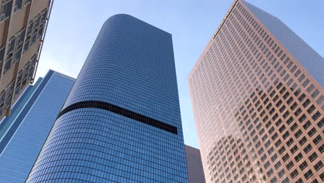
{"label": "pale blue sky behind and between the skyscrapers", "polygon": [[[324,55],[323,0],[248,0]],[[199,148],[187,77],[232,0],[55,0],[37,70],[77,77],[104,21],[125,13],[172,34],[185,143]]]}

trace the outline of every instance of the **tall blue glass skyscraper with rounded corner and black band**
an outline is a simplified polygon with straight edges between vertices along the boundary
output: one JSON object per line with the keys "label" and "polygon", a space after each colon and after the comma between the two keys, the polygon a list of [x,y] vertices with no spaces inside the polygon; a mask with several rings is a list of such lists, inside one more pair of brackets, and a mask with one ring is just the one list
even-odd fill
{"label": "tall blue glass skyscraper with rounded corner and black band", "polygon": [[107,19],[27,182],[188,182],[172,36]]}

